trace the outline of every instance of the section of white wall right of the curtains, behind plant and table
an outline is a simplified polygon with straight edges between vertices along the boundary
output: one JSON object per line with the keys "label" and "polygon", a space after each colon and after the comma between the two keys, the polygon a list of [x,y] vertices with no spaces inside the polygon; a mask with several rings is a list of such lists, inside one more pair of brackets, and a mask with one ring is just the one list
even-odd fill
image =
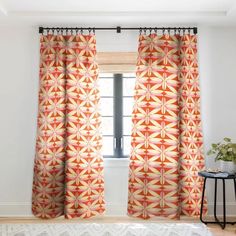
{"label": "section of white wall right of the curtains, behind plant and table", "polygon": [[[211,143],[231,137],[236,142],[236,28],[200,28],[199,69],[205,153]],[[218,167],[207,157],[207,167]],[[218,181],[219,202],[222,183]],[[209,181],[209,213],[213,214],[214,182]],[[233,181],[226,183],[227,212],[236,215]],[[222,207],[218,207],[222,212]]]}

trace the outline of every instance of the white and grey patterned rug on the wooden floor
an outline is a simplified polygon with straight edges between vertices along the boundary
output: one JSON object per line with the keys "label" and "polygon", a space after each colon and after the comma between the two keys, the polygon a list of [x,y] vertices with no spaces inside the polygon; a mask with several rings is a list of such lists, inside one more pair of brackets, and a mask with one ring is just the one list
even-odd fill
{"label": "white and grey patterned rug on the wooden floor", "polygon": [[0,236],[212,236],[202,223],[0,224]]}

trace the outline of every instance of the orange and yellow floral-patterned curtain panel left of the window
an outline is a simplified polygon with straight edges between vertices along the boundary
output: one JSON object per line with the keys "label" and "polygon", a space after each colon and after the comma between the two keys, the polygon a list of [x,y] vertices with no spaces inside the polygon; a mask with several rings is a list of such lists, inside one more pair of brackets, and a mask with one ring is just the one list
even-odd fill
{"label": "orange and yellow floral-patterned curtain panel left of the window", "polygon": [[33,214],[104,212],[94,35],[42,35]]}

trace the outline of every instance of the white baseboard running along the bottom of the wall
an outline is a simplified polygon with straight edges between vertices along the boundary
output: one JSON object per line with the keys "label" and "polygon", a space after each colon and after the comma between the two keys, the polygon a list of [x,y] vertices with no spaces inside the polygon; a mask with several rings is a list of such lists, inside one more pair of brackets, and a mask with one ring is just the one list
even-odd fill
{"label": "white baseboard running along the bottom of the wall", "polygon": [[[213,215],[214,203],[208,203],[208,215]],[[222,202],[217,204],[217,215],[223,212]],[[236,216],[236,202],[227,202],[227,216]],[[127,205],[106,203],[106,216],[126,216]],[[32,217],[31,203],[0,202],[0,217]]]}

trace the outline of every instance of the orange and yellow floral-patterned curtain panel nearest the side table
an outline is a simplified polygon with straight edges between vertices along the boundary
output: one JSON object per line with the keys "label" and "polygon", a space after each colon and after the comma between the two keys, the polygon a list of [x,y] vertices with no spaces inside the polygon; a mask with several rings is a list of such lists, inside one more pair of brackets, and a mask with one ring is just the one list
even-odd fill
{"label": "orange and yellow floral-patterned curtain panel nearest the side table", "polygon": [[204,158],[196,35],[140,35],[134,100],[128,214],[199,215]]}

